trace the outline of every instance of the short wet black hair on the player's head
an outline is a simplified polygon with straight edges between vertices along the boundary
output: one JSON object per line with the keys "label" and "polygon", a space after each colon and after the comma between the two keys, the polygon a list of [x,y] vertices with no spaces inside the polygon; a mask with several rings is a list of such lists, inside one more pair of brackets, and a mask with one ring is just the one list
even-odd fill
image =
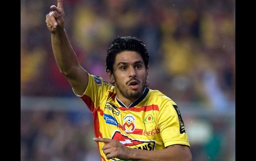
{"label": "short wet black hair on the player's head", "polygon": [[136,37],[117,37],[112,45],[109,47],[106,56],[106,71],[110,70],[113,73],[113,65],[115,62],[116,54],[122,51],[136,51],[138,52],[145,64],[148,67],[149,55],[146,46],[141,40]]}

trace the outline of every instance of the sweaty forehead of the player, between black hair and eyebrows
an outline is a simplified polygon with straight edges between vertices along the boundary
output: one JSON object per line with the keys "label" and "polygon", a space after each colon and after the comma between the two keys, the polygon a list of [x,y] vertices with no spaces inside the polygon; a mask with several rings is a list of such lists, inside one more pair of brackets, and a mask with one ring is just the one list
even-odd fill
{"label": "sweaty forehead of the player, between black hair and eyebrows", "polygon": [[141,55],[136,51],[122,51],[116,54],[115,63],[117,65],[119,62],[126,62],[126,63],[134,63],[136,61],[143,61]]}

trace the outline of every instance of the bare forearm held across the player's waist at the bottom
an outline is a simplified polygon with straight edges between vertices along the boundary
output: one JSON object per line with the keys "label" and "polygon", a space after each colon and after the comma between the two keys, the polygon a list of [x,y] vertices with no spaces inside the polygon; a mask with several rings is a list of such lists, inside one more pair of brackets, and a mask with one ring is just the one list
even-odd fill
{"label": "bare forearm held across the player's waist at the bottom", "polygon": [[133,161],[192,161],[189,147],[169,147],[163,150],[149,151],[131,149],[129,160]]}

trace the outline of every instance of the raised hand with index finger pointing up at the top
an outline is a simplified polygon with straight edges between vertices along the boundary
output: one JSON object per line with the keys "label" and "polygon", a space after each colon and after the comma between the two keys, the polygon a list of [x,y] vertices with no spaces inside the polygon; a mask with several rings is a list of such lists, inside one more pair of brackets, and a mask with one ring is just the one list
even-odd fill
{"label": "raised hand with index finger pointing up at the top", "polygon": [[63,0],[58,0],[58,5],[51,6],[51,11],[46,15],[46,25],[51,33],[56,33],[57,30],[64,29],[64,9]]}

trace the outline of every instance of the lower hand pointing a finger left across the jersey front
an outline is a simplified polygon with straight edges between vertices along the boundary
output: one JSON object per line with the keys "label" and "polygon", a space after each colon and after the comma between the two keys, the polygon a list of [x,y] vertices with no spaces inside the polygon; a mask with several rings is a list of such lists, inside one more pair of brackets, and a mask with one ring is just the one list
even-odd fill
{"label": "lower hand pointing a finger left across the jersey front", "polygon": [[107,159],[118,158],[121,160],[130,160],[131,148],[124,146],[118,140],[99,137],[95,137],[93,140],[106,143],[101,149],[107,156]]}

